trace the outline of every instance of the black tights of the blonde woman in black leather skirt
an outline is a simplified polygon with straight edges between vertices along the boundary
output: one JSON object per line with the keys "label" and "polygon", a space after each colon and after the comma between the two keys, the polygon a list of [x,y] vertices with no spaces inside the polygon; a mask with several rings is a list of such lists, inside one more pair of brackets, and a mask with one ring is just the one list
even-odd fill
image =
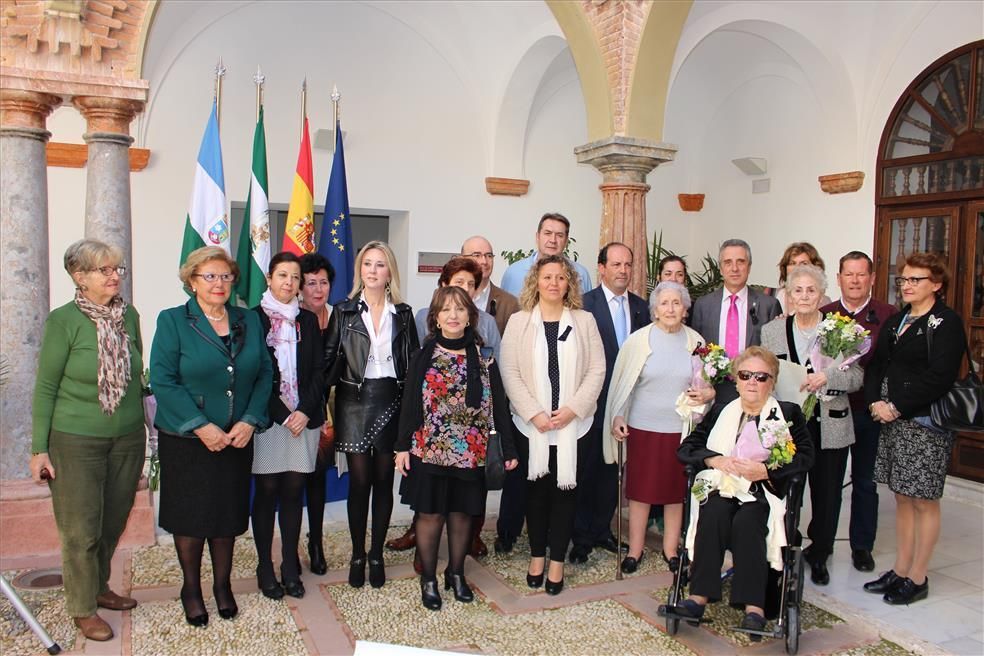
{"label": "black tights of the blonde woman in black leather skirt", "polygon": [[393,514],[393,453],[372,449],[369,453],[348,453],[349,533],[352,557],[366,553],[366,524],[369,520],[369,494],[372,493],[372,545],[369,558],[381,560],[390,515]]}

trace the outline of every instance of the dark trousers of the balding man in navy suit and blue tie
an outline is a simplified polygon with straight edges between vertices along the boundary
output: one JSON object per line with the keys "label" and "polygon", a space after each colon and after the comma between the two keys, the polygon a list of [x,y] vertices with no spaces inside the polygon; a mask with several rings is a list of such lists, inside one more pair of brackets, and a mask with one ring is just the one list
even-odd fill
{"label": "dark trousers of the balding man in navy suit and blue tie", "polygon": [[601,424],[577,441],[577,510],[574,544],[590,549],[612,534],[612,517],[618,505],[618,465],[606,464],[602,451]]}

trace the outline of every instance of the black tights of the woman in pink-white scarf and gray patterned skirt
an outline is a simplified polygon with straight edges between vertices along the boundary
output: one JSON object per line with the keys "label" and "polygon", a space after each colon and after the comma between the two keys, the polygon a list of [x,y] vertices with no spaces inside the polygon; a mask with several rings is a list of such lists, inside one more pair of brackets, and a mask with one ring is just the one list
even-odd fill
{"label": "black tights of the woman in pink-white scarf and gray patterned skirt", "polygon": [[301,573],[297,568],[297,543],[301,535],[301,493],[307,474],[280,472],[255,474],[256,495],[253,497],[253,539],[259,559],[257,575],[271,581],[273,572],[273,516],[279,515],[281,563],[280,573],[285,581],[296,581]]}

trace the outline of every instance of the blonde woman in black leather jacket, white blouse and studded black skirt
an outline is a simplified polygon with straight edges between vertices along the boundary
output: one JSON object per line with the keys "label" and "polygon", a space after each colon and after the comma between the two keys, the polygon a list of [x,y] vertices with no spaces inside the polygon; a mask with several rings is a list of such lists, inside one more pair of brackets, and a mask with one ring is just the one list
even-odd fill
{"label": "blonde woman in black leather jacket, white blouse and studded black skirt", "polygon": [[366,523],[372,493],[369,584],[386,582],[383,544],[393,512],[393,443],[410,354],[420,348],[413,310],[400,295],[389,245],[371,241],[355,258],[355,285],[335,306],[325,337],[328,383],[335,385],[335,450],[349,468],[352,536],[349,585],[366,579]]}

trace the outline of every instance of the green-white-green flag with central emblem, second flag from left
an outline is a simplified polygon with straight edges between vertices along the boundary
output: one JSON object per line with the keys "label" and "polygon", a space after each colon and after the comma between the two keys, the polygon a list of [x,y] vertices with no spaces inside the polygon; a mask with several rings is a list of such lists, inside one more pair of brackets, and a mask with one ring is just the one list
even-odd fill
{"label": "green-white-green flag with central emblem, second flag from left", "polygon": [[270,206],[267,197],[266,134],[263,107],[253,132],[253,167],[246,196],[243,229],[239,234],[239,282],[236,293],[247,307],[260,304],[266,291],[266,272],[270,266]]}

